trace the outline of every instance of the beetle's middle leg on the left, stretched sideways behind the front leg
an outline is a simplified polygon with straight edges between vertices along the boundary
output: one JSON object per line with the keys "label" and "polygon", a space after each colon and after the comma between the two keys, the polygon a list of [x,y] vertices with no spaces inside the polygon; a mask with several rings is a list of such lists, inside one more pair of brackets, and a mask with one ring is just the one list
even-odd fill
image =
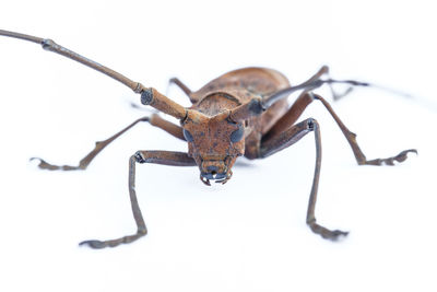
{"label": "beetle's middle leg on the left, stretched sideways behind the front leg", "polygon": [[116,135],[114,135],[113,137],[104,140],[104,141],[96,142],[95,148],[93,149],[93,151],[91,151],[85,157],[83,157],[79,162],[78,166],[54,165],[54,164],[47,163],[45,160],[39,159],[39,157],[32,157],[31,161],[32,160],[38,160],[39,161],[38,167],[42,168],[42,170],[49,170],[49,171],[57,171],[57,170],[61,170],[61,171],[79,171],[79,170],[85,170],[88,166],[88,164],[94,160],[94,157],[102,150],[104,150],[110,142],[116,140],[118,137],[120,137],[122,133],[128,131],[130,128],[132,128],[133,126],[135,126],[140,121],[149,121],[152,126],[158,127],[158,128],[165,130],[166,132],[173,135],[174,137],[179,138],[179,139],[185,141],[184,133],[182,133],[182,128],[180,128],[179,126],[176,126],[176,125],[174,125],[174,124],[161,118],[158,115],[152,115],[151,117],[139,118],[135,121],[133,121],[131,125],[129,125],[128,127],[122,129],[121,131],[119,131]]}

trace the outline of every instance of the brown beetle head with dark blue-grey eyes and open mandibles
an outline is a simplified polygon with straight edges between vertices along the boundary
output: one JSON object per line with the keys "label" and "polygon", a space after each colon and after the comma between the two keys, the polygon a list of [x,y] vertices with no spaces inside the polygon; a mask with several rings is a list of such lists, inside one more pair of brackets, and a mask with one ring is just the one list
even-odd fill
{"label": "brown beetle head with dark blue-grey eyes and open mandibles", "polygon": [[245,153],[245,127],[231,120],[229,114],[225,110],[210,117],[189,109],[181,122],[188,154],[194,159],[206,185],[210,180],[226,183],[236,159]]}

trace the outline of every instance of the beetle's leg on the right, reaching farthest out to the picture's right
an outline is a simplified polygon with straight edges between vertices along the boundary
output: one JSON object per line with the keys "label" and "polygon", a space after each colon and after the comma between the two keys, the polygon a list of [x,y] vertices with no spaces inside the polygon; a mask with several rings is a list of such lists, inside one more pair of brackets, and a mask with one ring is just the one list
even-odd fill
{"label": "beetle's leg on the right, reaching farthest out to the picture's right", "polygon": [[394,162],[403,162],[408,157],[408,153],[417,153],[415,149],[409,149],[400,152],[398,155],[394,155],[392,157],[388,159],[376,159],[376,160],[367,160],[366,156],[364,155],[363,151],[361,150],[358,143],[356,142],[356,135],[350,131],[346,126],[343,124],[343,121],[339,118],[339,116],[335,114],[335,112],[332,109],[330,104],[324,101],[323,97],[321,97],[318,94],[311,93],[311,92],[304,92],[297,100],[296,102],[292,105],[292,107],[288,109],[288,112],[281,117],[276,121],[276,124],[267,132],[263,137],[263,141],[269,141],[270,139],[273,139],[277,135],[281,135],[285,129],[294,125],[296,120],[300,117],[302,113],[306,109],[306,107],[312,103],[312,101],[318,100],[320,101],[323,106],[328,109],[328,112],[331,114],[332,118],[335,120],[336,125],[340,127],[341,131],[343,132],[344,137],[346,138],[347,142],[351,145],[351,149],[355,155],[355,159],[359,165],[394,165]]}

